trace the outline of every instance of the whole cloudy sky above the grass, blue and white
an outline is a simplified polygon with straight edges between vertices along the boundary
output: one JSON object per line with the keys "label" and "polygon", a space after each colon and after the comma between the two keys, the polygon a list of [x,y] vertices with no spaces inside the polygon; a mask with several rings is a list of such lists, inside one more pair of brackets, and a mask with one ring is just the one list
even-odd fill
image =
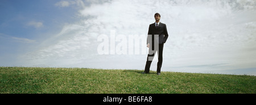
{"label": "whole cloudy sky above the grass, blue and white", "polygon": [[169,33],[162,71],[256,75],[254,0],[1,0],[0,66],[143,70],[155,12]]}

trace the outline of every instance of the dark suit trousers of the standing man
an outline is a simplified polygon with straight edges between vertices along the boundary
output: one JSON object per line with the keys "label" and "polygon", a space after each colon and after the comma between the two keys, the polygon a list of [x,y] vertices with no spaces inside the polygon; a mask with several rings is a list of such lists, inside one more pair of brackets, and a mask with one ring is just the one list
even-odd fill
{"label": "dark suit trousers of the standing man", "polygon": [[158,44],[158,45],[159,45],[158,49],[155,49],[154,51],[152,51],[152,50],[148,51],[147,62],[146,62],[146,66],[145,66],[145,69],[144,69],[145,73],[150,72],[150,65],[151,65],[151,62],[152,62],[153,58],[155,57],[156,52],[158,52],[158,65],[157,65],[156,72],[157,73],[161,72],[161,67],[162,67],[162,64],[163,64],[163,46],[164,46],[164,43],[163,44]]}

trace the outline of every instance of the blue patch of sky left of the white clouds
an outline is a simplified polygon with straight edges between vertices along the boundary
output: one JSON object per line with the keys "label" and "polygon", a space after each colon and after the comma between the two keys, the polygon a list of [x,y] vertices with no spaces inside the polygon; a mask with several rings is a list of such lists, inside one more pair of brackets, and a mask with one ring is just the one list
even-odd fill
{"label": "blue patch of sky left of the white clouds", "polygon": [[1,57],[14,62],[13,57],[26,52],[23,48],[40,43],[46,35],[60,31],[65,23],[77,19],[78,8],[57,6],[57,2],[60,1],[0,1]]}

